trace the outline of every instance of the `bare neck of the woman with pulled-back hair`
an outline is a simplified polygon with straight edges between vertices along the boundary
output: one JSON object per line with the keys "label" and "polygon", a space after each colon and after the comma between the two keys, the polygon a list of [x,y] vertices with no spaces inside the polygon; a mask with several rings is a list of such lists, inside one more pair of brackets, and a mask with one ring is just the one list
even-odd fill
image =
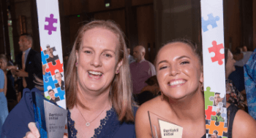
{"label": "bare neck of the woman with pulled-back hair", "polygon": [[200,90],[184,97],[183,100],[169,100],[169,103],[180,119],[197,121],[205,118],[204,96]]}

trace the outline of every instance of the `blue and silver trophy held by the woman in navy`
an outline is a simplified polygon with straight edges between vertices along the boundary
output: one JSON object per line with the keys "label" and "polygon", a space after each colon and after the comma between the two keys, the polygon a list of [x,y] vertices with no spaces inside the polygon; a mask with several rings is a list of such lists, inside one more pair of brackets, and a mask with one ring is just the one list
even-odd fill
{"label": "blue and silver trophy held by the woman in navy", "polygon": [[64,134],[67,110],[32,92],[34,116],[41,137],[60,138]]}

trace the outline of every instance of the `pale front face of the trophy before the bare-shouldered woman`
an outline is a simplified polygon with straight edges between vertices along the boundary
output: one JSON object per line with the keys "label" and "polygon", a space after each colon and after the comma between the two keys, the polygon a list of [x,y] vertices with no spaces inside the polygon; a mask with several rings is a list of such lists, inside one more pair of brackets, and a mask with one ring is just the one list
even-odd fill
{"label": "pale front face of the trophy before the bare-shouldered woman", "polygon": [[161,119],[158,119],[158,122],[159,122],[159,128],[160,128],[162,138],[169,138],[169,137],[181,138],[182,137],[183,128],[181,126],[178,126],[174,123],[170,123],[167,121],[162,121]]}

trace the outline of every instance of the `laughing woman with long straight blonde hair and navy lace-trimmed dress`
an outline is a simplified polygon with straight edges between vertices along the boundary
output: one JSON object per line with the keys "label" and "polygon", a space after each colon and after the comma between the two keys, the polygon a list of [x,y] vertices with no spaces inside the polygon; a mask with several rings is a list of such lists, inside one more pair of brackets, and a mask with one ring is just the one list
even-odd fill
{"label": "laughing woman with long straight blonde hair and navy lace-trimmed dress", "polygon": [[[135,137],[137,107],[127,57],[124,33],[116,23],[95,20],[80,28],[65,70],[69,137]],[[22,131],[4,129],[4,134],[38,137],[31,116]]]}

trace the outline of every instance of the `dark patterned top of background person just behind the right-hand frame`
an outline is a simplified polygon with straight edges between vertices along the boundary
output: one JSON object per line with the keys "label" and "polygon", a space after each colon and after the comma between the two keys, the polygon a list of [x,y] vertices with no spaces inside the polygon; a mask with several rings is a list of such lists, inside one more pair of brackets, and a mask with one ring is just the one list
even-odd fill
{"label": "dark patterned top of background person just behind the right-hand frame", "polygon": [[242,110],[247,109],[247,106],[244,104],[244,97],[229,79],[226,79],[226,100],[230,104],[236,105]]}

